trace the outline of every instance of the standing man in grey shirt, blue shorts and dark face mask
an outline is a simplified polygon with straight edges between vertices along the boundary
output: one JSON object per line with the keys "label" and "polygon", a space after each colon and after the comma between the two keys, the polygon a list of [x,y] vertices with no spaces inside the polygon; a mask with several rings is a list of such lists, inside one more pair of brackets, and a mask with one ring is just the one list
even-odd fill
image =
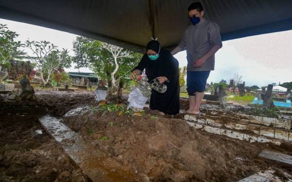
{"label": "standing man in grey shirt, blue shorts and dark face mask", "polygon": [[210,71],[214,70],[215,53],[222,47],[219,26],[203,18],[200,2],[188,7],[191,25],[185,30],[183,38],[171,54],[186,50],[186,86],[189,95],[189,109],[186,113],[199,114],[201,101]]}

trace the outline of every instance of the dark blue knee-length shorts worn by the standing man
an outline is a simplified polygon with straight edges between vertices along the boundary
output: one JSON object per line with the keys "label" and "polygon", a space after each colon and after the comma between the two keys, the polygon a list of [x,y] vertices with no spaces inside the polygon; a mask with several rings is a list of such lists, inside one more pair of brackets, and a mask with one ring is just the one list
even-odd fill
{"label": "dark blue knee-length shorts worn by the standing man", "polygon": [[210,71],[187,71],[186,91],[188,95],[194,96],[196,92],[204,92],[209,75]]}

